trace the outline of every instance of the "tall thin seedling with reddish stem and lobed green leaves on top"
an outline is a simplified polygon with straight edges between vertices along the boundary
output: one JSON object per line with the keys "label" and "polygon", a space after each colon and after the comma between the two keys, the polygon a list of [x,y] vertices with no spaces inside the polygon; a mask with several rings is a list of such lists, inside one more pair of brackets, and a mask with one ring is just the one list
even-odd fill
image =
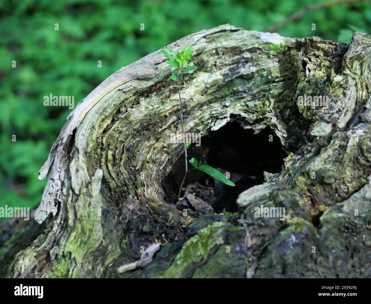
{"label": "tall thin seedling with reddish stem and lobed green leaves on top", "polygon": [[[197,66],[188,66],[190,59],[192,58],[192,54],[194,52],[192,45],[186,45],[182,48],[181,52],[174,52],[168,49],[162,49],[162,53],[164,53],[165,57],[168,59],[166,63],[170,65],[172,68],[177,68],[177,72],[173,72],[170,76],[171,80],[177,82],[174,85],[175,88],[178,88],[178,95],[179,95],[179,102],[180,102],[180,118],[182,124],[182,134],[183,138],[185,138],[184,134],[184,121],[183,121],[183,102],[180,97],[180,89],[183,87],[181,85],[181,79],[183,74],[188,74],[190,71],[197,69]],[[183,183],[185,180],[185,176],[187,176],[188,171],[188,161],[187,161],[187,148],[190,146],[190,143],[183,143],[184,144],[184,154],[185,154],[185,173],[183,177],[183,181],[179,188],[178,200],[180,200],[180,192],[183,187]]]}

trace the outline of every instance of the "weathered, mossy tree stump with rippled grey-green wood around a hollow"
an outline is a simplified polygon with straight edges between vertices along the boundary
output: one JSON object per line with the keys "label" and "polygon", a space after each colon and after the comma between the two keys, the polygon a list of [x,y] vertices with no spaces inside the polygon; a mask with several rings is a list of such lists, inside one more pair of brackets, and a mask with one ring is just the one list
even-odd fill
{"label": "weathered, mossy tree stump with rippled grey-green wood around a hollow", "polygon": [[[6,276],[371,277],[370,35],[348,48],[220,26],[168,49],[187,44],[198,69],[184,78],[185,132],[270,127],[288,153],[282,170],[241,193],[234,215],[167,205],[161,180],[183,146],[170,142],[179,102],[159,50],[70,114],[40,170],[49,180],[35,219],[48,218],[46,230]],[[298,105],[304,94],[329,106]],[[261,205],[285,207],[285,220],[254,217]]]}

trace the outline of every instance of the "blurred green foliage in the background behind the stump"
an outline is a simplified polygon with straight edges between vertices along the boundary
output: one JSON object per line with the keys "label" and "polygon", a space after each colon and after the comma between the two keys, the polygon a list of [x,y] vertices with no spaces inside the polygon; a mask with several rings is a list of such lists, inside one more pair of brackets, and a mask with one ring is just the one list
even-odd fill
{"label": "blurred green foliage in the background behind the stump", "polygon": [[[263,31],[320,2],[326,1],[2,0],[0,207],[40,202],[46,180],[38,171],[72,111],[44,107],[45,95],[75,96],[76,106],[122,66],[181,37],[226,23]],[[360,2],[310,11],[277,32],[349,43],[370,24],[371,3]]]}

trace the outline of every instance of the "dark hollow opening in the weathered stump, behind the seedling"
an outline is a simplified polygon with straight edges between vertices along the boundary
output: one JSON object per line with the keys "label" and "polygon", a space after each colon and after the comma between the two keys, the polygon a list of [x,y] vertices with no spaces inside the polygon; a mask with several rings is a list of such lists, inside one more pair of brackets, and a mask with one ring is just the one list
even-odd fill
{"label": "dark hollow opening in the weathered stump, behind the seedling", "polygon": [[[269,135],[273,135],[272,141],[269,141]],[[254,130],[244,130],[237,122],[230,122],[219,130],[212,131],[209,135],[202,137],[200,143],[199,147],[193,143],[187,150],[188,174],[183,188],[188,187],[191,193],[196,192],[195,196],[211,205],[217,213],[237,211],[238,195],[252,186],[264,183],[264,171],[278,173],[282,168],[283,158],[287,157],[279,138],[270,128],[254,134]],[[224,174],[229,172],[230,180],[236,186],[228,186],[196,170],[189,163],[192,157],[196,157],[198,161],[202,157],[202,164],[208,164]],[[165,202],[174,204],[179,210],[193,209],[187,200],[184,200],[182,204],[177,203],[184,171],[183,153],[170,173],[162,180]],[[211,189],[204,189],[199,185]],[[181,196],[183,195],[184,191]]]}

